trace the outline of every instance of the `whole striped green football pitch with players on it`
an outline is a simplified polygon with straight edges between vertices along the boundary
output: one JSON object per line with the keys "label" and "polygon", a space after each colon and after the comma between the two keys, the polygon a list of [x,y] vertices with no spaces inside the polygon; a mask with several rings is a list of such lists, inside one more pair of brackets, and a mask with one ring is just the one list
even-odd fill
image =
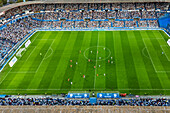
{"label": "whole striped green football pitch with players on it", "polygon": [[170,95],[168,38],[156,30],[39,31],[16,64],[0,73],[0,93]]}

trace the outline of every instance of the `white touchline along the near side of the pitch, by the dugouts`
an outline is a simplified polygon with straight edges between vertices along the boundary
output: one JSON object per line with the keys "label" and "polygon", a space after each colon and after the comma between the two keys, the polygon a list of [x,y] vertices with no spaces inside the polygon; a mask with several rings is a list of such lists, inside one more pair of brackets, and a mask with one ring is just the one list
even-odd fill
{"label": "white touchline along the near side of the pitch, by the dugouts", "polygon": [[[7,90],[7,91],[13,91],[13,90],[39,90],[39,91],[44,91],[44,90],[69,90],[69,91],[83,91],[83,90],[89,90],[89,89],[0,89],[0,90]],[[103,89],[96,89],[96,90],[103,90]],[[117,91],[119,90],[167,90],[169,91],[170,89],[117,89]]]}

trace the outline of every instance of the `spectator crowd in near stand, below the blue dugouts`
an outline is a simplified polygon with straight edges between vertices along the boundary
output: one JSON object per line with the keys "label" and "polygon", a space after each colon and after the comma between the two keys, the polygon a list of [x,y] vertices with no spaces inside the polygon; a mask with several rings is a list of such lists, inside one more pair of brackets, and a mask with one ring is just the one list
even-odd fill
{"label": "spectator crowd in near stand, below the blue dugouts", "polygon": [[110,106],[170,106],[170,99],[166,98],[131,98],[131,99],[99,99],[91,103],[89,99],[59,99],[59,98],[0,98],[1,106],[22,105],[110,105]]}

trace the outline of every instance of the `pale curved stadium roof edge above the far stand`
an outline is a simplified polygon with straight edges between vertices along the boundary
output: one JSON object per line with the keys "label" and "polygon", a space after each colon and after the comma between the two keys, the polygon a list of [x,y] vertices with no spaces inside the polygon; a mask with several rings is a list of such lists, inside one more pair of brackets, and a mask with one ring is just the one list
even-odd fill
{"label": "pale curved stadium roof edge above the far stand", "polygon": [[7,6],[0,7],[0,13],[11,8],[41,3],[117,3],[117,2],[170,2],[170,0],[36,0],[29,2],[14,3]]}

